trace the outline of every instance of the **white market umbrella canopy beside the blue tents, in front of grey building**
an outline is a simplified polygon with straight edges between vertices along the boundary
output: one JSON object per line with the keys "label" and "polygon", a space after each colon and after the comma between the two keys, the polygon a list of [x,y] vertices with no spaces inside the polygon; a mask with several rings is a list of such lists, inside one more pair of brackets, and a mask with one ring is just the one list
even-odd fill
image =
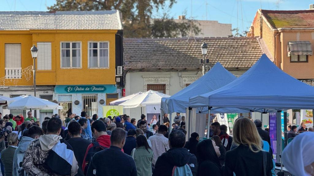
{"label": "white market umbrella canopy beside the blue tents, in front of grey building", "polygon": [[160,105],[161,98],[170,97],[169,95],[149,90],[134,96],[130,100],[119,104],[123,108],[145,107],[146,105]]}

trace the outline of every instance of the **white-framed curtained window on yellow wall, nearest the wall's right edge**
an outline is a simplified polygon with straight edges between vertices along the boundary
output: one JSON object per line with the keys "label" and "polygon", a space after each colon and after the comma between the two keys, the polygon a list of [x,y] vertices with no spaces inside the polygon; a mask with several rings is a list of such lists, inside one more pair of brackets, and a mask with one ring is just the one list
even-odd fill
{"label": "white-framed curtained window on yellow wall, nearest the wall's right edge", "polygon": [[88,44],[88,67],[108,68],[109,42],[89,42]]}

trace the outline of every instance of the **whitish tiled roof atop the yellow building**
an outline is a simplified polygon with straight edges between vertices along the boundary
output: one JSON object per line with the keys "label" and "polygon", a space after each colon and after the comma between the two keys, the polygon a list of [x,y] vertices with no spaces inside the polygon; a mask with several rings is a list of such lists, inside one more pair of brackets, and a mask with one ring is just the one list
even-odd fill
{"label": "whitish tiled roof atop the yellow building", "polygon": [[122,29],[118,10],[0,12],[0,30]]}

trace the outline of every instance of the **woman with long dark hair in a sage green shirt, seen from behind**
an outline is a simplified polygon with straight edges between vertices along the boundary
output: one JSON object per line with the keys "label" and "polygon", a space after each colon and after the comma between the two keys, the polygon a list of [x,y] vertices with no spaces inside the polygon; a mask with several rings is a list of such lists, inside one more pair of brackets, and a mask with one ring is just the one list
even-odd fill
{"label": "woman with long dark hair in a sage green shirt, seen from behind", "polygon": [[152,175],[154,155],[144,135],[140,134],[136,137],[136,148],[132,150],[131,156],[135,161],[138,176]]}

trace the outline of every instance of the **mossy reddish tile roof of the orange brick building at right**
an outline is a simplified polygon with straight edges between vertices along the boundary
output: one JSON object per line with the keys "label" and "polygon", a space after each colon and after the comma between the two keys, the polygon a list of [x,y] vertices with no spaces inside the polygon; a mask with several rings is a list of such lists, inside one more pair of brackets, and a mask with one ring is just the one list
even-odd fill
{"label": "mossy reddish tile roof of the orange brick building at right", "polygon": [[260,10],[274,29],[314,28],[314,10]]}

